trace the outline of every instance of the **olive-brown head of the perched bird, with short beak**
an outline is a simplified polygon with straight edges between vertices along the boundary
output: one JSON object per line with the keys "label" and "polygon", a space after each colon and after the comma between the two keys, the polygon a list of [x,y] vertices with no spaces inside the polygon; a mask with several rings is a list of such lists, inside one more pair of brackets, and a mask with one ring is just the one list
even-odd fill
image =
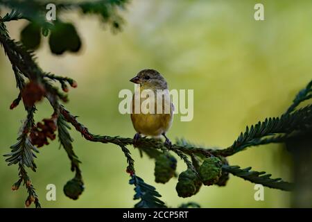
{"label": "olive-brown head of the perched bird, with short beak", "polygon": [[130,79],[130,82],[137,83],[146,89],[167,89],[168,85],[164,77],[155,69],[144,69],[139,71],[137,76]]}

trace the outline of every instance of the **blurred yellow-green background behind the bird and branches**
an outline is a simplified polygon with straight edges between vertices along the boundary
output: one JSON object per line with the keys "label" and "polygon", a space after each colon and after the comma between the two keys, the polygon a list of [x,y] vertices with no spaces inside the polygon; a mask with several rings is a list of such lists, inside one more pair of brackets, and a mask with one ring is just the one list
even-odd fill
{"label": "blurred yellow-green background behind the bird and branches", "polygon": [[[263,3],[265,21],[254,20],[254,4]],[[226,147],[245,129],[266,117],[279,116],[312,74],[311,1],[166,1],[133,0],[122,11],[123,31],[112,34],[96,17],[62,15],[72,21],[83,39],[78,54],[53,56],[47,39],[37,50],[45,71],[78,82],[69,92],[67,108],[92,133],[132,137],[129,115],[119,114],[119,90],[133,89],[129,79],[146,68],[157,69],[171,89],[194,89],[194,118],[175,117],[168,137],[185,137],[207,146]],[[26,22],[10,22],[11,37],[19,39]],[[15,144],[22,105],[9,110],[18,91],[8,58],[0,50],[0,153]],[[52,113],[47,101],[37,105],[36,121]],[[37,173],[30,173],[43,207],[132,207],[126,161],[112,144],[87,142],[75,130],[74,148],[83,164],[85,191],[78,200],[64,196],[62,187],[73,177],[69,160],[57,139],[40,148]],[[202,187],[196,196],[179,198],[176,178],[166,185],[154,182],[154,161],[139,157],[132,147],[137,175],[157,188],[171,207],[196,201],[202,207],[289,207],[291,194],[265,188],[265,200],[254,200],[254,184],[230,177],[226,187]],[[26,189],[11,191],[17,166],[0,161],[0,207],[24,207]],[[292,180],[290,158],[279,145],[249,148],[229,157],[230,164],[268,171]],[[186,166],[177,164],[178,171]],[[55,184],[57,200],[47,201],[46,185]]]}

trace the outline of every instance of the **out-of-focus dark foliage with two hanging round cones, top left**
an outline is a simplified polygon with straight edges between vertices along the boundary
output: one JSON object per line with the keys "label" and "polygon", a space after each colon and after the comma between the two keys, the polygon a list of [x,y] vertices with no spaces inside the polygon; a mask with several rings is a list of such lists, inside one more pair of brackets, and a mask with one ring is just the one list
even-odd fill
{"label": "out-of-focus dark foliage with two hanging round cones, top left", "polygon": [[46,4],[44,2],[28,0],[0,0],[0,6],[11,8],[12,11],[7,13],[2,22],[10,22],[19,19],[27,19],[28,23],[21,31],[21,42],[27,49],[37,49],[41,42],[41,33],[44,37],[49,35],[49,46],[51,53],[60,55],[65,51],[76,53],[81,48],[81,40],[76,27],[71,22],[63,22],[59,14],[68,10],[78,10],[83,15],[98,15],[101,17],[103,24],[111,27],[114,33],[121,30],[123,19],[118,15],[118,9],[124,9],[127,0],[98,0],[55,3],[58,9],[55,21],[46,20]]}

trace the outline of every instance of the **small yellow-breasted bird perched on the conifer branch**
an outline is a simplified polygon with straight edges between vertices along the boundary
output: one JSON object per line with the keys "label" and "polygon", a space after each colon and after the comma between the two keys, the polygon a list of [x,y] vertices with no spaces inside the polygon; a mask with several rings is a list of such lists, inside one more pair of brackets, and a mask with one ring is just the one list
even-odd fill
{"label": "small yellow-breasted bird perched on the conifer branch", "polygon": [[[157,104],[159,104],[159,101],[157,102],[157,89],[166,89],[168,91],[168,84],[166,83],[166,80],[155,69],[144,69],[142,71],[139,71],[137,76],[130,79],[130,82],[139,84],[140,92],[142,92],[144,89],[150,89],[151,92],[154,92],[155,110],[157,110]],[[162,105],[162,113],[139,112],[136,114],[136,99],[137,98],[135,98],[135,95],[133,95],[131,120],[133,127],[137,131],[137,134],[135,134],[135,137],[133,138],[133,144],[136,146],[137,141],[139,140],[141,135],[152,137],[160,137],[161,135],[163,135],[166,139],[164,143],[165,146],[171,146],[170,140],[168,139],[168,137],[166,137],[166,132],[171,127],[171,124],[173,122],[173,103],[171,103],[170,97],[162,95],[162,103],[160,103],[160,105]],[[146,102],[146,100],[148,99],[151,98],[149,96],[144,99],[140,98],[140,107],[141,104],[143,102]],[[165,104],[169,105],[169,112],[164,112]]]}

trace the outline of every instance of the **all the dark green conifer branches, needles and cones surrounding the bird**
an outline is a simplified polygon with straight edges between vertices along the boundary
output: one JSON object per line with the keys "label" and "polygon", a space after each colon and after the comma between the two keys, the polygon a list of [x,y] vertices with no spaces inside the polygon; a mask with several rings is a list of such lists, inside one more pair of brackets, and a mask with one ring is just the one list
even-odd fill
{"label": "all the dark green conifer branches, needles and cones surrounding the bird", "polygon": [[[118,8],[124,8],[127,1],[124,0],[99,0],[71,3],[58,3],[60,12],[64,10],[80,10],[85,15],[98,15],[102,22],[109,24],[113,30],[120,30],[123,20],[118,15]],[[135,185],[135,200],[139,203],[135,207],[166,207],[160,194],[155,187],[147,185],[144,180],[135,174],[135,160],[132,159],[128,145],[133,145],[133,139],[119,136],[96,135],[90,133],[77,117],[71,114],[62,103],[68,101],[67,92],[69,86],[77,87],[76,81],[71,78],[57,76],[43,71],[35,62],[34,52],[40,44],[41,34],[48,36],[49,46],[52,53],[62,54],[65,51],[77,52],[80,49],[80,37],[76,28],[69,22],[58,19],[55,22],[47,22],[44,17],[45,5],[40,1],[17,1],[0,0],[0,6],[6,6],[12,11],[3,18],[0,17],[0,43],[6,56],[10,60],[15,80],[19,89],[17,98],[10,105],[10,109],[23,101],[27,112],[26,120],[21,127],[17,144],[11,146],[11,152],[5,156],[8,165],[18,164],[19,179],[12,186],[17,190],[23,182],[28,191],[26,206],[35,203],[40,207],[39,198],[35,193],[27,168],[35,171],[35,153],[37,147],[49,144],[48,139],[55,138],[58,133],[60,145],[64,148],[71,162],[71,171],[75,176],[64,185],[64,194],[76,200],[84,189],[83,176],[80,170],[80,160],[73,151],[73,139],[69,133],[71,124],[81,135],[90,142],[101,142],[103,144],[115,144],[123,151],[130,174],[130,184]],[[27,19],[30,23],[21,31],[22,42],[15,42],[10,38],[4,22],[18,19]],[[34,34],[35,33],[35,34]],[[33,35],[36,35],[35,42],[31,42]],[[63,41],[64,36],[69,36],[69,41]],[[53,83],[60,83],[60,88]],[[245,148],[270,143],[284,143],[291,139],[304,135],[312,127],[312,105],[306,105],[297,109],[302,101],[311,99],[312,81],[306,85],[295,97],[293,104],[281,117],[266,118],[255,125],[246,127],[235,142],[228,148],[206,148],[197,146],[184,139],[178,139],[176,144],[164,145],[159,139],[141,138],[136,142],[141,153],[156,160],[155,180],[167,182],[175,174],[176,160],[169,152],[175,153],[187,165],[187,170],[180,173],[177,182],[177,193],[179,196],[188,197],[197,194],[202,182],[206,185],[225,186],[228,180],[228,173],[238,176],[250,182],[258,183],[266,187],[290,191],[294,185],[285,182],[281,178],[272,179],[270,174],[265,172],[250,171],[251,167],[241,169],[237,166],[230,166],[225,157],[234,155]],[[51,118],[44,119],[43,123],[35,124],[35,103],[47,99],[53,108]],[[162,157],[166,157],[162,159]],[[172,158],[173,157],[173,158]],[[191,157],[191,160],[189,159]],[[168,172],[169,169],[169,172]],[[168,175],[164,175],[168,173]],[[159,179],[160,178],[160,179]],[[222,180],[221,180],[222,179]],[[189,203],[182,207],[198,207]]]}

